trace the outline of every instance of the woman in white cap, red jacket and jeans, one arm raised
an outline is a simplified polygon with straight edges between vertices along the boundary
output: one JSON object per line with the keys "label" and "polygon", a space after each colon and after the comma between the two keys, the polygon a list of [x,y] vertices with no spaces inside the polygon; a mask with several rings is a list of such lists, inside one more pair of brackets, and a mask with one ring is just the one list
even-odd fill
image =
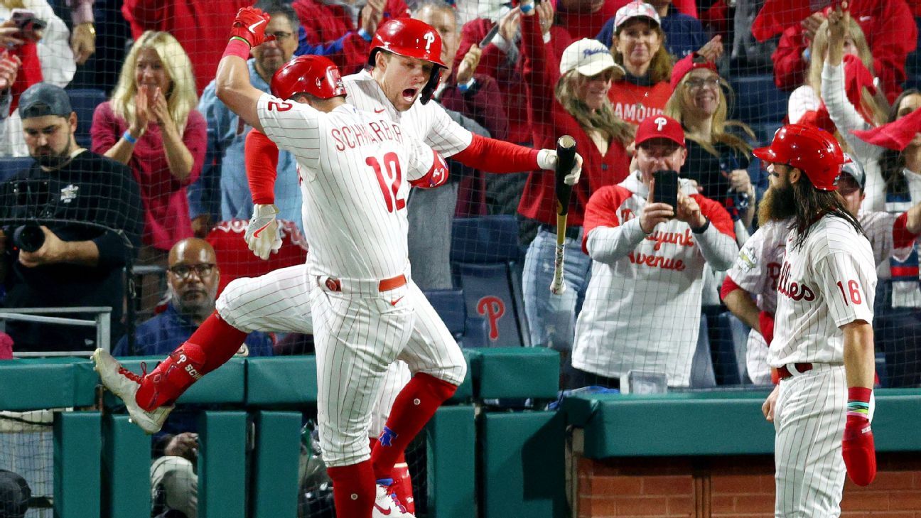
{"label": "woman in white cap, red jacket and jeans, one arm raised", "polygon": [[604,185],[621,182],[630,169],[626,146],[633,141],[633,126],[613,112],[608,90],[614,76],[624,70],[614,63],[608,48],[597,40],[569,45],[559,61],[542,38],[541,23],[552,16],[549,3],[538,4],[540,17],[521,20],[524,78],[530,88],[530,114],[536,147],[555,147],[561,135],[576,139],[584,159],[582,181],[573,187],[566,230],[565,284],[560,295],[549,291],[555,251],[556,198],[554,174],[531,171],[519,212],[540,224],[531,241],[524,267],[524,303],[531,345],[554,347],[563,359],[564,373],[571,369],[577,308],[589,284],[589,256],[582,252],[582,219],[589,197]]}

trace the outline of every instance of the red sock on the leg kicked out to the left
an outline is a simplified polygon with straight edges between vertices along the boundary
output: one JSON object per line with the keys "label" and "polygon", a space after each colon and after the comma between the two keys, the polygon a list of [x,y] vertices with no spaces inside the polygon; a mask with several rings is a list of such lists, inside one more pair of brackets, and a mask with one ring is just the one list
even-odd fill
{"label": "red sock on the leg kicked out to the left", "polygon": [[188,341],[144,377],[134,395],[137,405],[150,411],[176,401],[192,383],[226,363],[247,335],[211,313]]}

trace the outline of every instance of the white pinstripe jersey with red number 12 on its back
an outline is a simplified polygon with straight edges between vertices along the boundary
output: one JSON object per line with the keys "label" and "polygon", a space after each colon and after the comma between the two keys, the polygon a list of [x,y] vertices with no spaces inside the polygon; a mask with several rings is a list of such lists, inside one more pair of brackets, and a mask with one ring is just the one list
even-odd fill
{"label": "white pinstripe jersey with red number 12 on its back", "polygon": [[329,113],[262,95],[265,135],[297,159],[311,275],[382,279],[408,271],[409,181],[431,148],[386,116],[344,104]]}

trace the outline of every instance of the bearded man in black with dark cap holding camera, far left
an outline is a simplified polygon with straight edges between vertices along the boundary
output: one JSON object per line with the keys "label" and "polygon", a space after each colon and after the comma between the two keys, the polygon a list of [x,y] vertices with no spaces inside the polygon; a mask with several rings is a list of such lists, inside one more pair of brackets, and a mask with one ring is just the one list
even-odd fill
{"label": "bearded man in black with dark cap holding camera, far left", "polygon": [[[35,162],[0,183],[3,305],[109,306],[111,336],[122,336],[122,269],[136,253],[144,224],[131,171],[77,146],[76,113],[64,89],[32,85],[18,112]],[[17,351],[99,347],[92,327],[7,321],[6,333]]]}

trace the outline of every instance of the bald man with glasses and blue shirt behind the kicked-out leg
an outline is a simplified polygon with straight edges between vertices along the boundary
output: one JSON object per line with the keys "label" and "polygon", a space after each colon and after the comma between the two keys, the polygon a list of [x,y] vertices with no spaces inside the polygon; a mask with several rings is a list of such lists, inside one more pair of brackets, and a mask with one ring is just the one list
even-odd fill
{"label": "bald man with glasses and blue shirt behind the kicked-out leg", "polygon": [[[215,249],[208,241],[190,238],[177,242],[169,251],[166,310],[137,326],[134,351],[128,350],[127,337],[123,337],[114,356],[163,356],[172,352],[215,312],[220,277]],[[271,356],[272,342],[271,336],[253,332],[237,355]]]}

